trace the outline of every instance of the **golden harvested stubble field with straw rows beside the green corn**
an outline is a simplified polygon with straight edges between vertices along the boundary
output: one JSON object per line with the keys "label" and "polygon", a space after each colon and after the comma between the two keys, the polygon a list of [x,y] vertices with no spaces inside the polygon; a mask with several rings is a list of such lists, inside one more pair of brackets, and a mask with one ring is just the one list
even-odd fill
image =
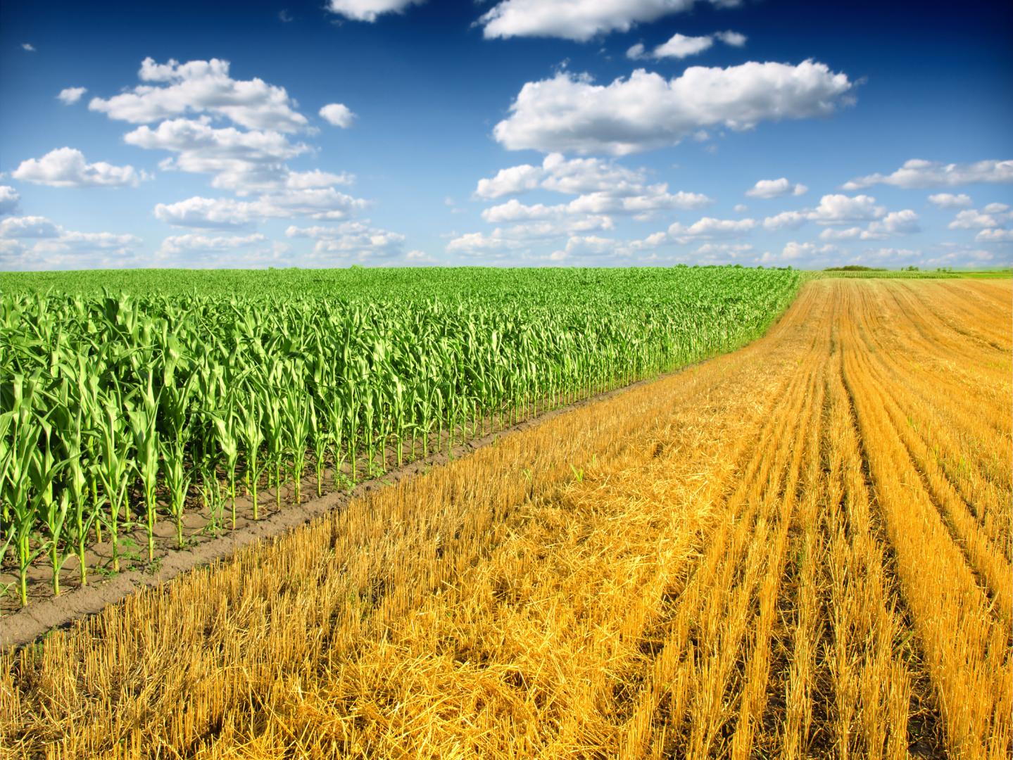
{"label": "golden harvested stubble field with straw rows beside the green corn", "polygon": [[756,343],[0,656],[52,757],[1005,757],[1009,280]]}

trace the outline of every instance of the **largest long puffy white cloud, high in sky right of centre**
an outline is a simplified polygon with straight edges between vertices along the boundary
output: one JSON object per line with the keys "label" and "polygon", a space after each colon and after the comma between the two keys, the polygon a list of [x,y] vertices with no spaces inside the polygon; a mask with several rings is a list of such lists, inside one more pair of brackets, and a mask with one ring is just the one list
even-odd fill
{"label": "largest long puffy white cloud, high in sky right of centre", "polygon": [[853,87],[847,75],[812,61],[696,66],[671,80],[638,69],[609,85],[560,72],[525,84],[493,135],[510,150],[625,155],[674,145],[706,126],[748,130],[826,115]]}

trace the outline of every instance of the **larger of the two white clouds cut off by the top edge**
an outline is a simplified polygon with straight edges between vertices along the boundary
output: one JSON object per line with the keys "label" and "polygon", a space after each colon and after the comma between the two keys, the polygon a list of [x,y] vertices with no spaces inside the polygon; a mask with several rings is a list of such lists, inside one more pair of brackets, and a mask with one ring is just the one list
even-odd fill
{"label": "larger of the two white clouds cut off by the top edge", "polygon": [[[332,0],[333,2],[333,0]],[[710,0],[730,7],[738,0]],[[587,41],[692,9],[694,0],[500,0],[478,19],[486,38],[554,36]]]}

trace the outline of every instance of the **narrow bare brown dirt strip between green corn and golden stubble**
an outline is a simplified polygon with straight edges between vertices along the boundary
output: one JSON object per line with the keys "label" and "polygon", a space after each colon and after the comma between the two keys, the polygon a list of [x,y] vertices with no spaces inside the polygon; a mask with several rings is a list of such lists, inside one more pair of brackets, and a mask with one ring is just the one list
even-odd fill
{"label": "narrow bare brown dirt strip between green corn and golden stubble", "polygon": [[[772,323],[771,327],[775,324],[777,324],[776,321]],[[362,481],[350,490],[331,490],[325,492],[322,496],[311,497],[309,500],[298,505],[284,506],[255,522],[251,521],[241,527],[228,530],[221,535],[206,538],[189,548],[170,548],[164,556],[157,559],[157,565],[153,567],[126,570],[101,580],[92,580],[87,586],[73,587],[60,594],[60,596],[50,596],[42,601],[29,603],[15,612],[0,616],[0,650],[10,647],[20,648],[32,644],[50,631],[66,628],[75,620],[97,614],[110,604],[116,604],[142,589],[156,588],[190,570],[210,566],[221,560],[228,559],[239,550],[258,541],[277,539],[321,515],[343,509],[356,497],[368,494],[374,489],[393,485],[405,478],[411,478],[427,471],[430,468],[439,467],[450,460],[466,456],[483,446],[494,444],[504,435],[527,430],[558,415],[612,398],[630,389],[652,383],[660,377],[685,372],[709,360],[704,359],[686,364],[678,369],[673,369],[656,376],[645,377],[627,386],[595,394],[564,406],[540,412],[491,433],[457,443],[451,447],[450,453],[446,449],[441,449],[427,456],[413,459],[401,467],[392,468],[376,478]],[[327,483],[333,483],[333,471],[325,471],[324,480]],[[303,479],[301,488],[304,494],[311,493],[315,487],[316,484],[313,477]],[[292,486],[286,486],[282,493],[284,495],[283,499],[291,499],[293,495]],[[261,497],[261,506],[270,508],[275,498],[275,491],[272,489],[262,490],[259,491],[259,495]],[[249,506],[250,501],[248,497],[244,496],[238,498],[236,503],[237,508],[242,510]]]}

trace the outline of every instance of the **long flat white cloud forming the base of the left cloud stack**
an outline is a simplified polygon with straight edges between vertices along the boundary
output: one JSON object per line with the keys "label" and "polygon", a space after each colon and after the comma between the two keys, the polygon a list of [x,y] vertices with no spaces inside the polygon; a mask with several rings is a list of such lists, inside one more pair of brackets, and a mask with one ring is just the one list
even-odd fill
{"label": "long flat white cloud forming the base of the left cloud stack", "polygon": [[155,217],[174,227],[229,230],[250,227],[267,219],[343,220],[368,205],[365,200],[333,187],[321,187],[266,193],[257,200],[194,196],[157,204]]}

